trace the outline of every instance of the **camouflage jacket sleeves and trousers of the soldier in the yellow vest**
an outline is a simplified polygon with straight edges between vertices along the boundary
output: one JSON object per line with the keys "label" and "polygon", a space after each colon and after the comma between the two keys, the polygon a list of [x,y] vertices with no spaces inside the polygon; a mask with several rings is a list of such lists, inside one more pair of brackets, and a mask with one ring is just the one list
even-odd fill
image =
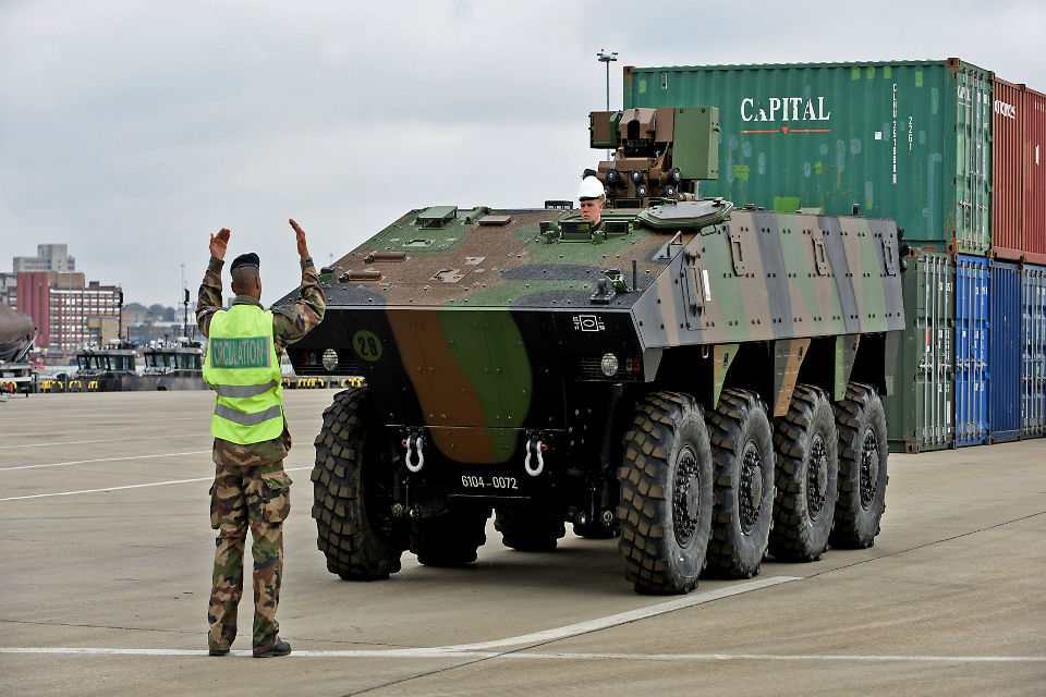
{"label": "camouflage jacket sleeves and trousers of the soldier in the yellow vest", "polygon": [[[211,257],[199,286],[196,320],[207,335],[210,319],[221,309],[221,268]],[[238,295],[233,305],[262,306],[248,295]],[[313,260],[302,260],[302,286],[293,306],[272,308],[272,338],[276,355],[304,337],[324,319],[326,299]],[[220,530],[215,552],[214,586],[207,622],[207,644],[228,649],[236,638],[236,607],[243,595],[243,552],[247,528],[254,558],[254,652],[272,648],[280,625],[276,609],[283,575],[283,521],[291,510],[291,478],[283,472],[283,458],[291,449],[291,433],[283,420],[279,438],[241,445],[215,439],[215,484],[210,488],[210,526]]]}

